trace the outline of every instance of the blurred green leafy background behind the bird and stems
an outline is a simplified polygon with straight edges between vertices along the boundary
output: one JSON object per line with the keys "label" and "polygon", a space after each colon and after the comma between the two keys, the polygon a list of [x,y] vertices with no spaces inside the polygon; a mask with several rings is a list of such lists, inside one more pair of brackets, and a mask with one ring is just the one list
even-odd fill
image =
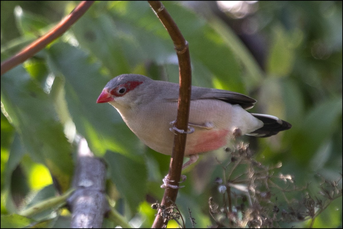
{"label": "blurred green leafy background behind the bird and stems", "polygon": [[[76,4],[1,1],[1,61],[48,31]],[[261,56],[253,56],[206,5],[164,4],[189,42],[193,85],[250,95],[258,100],[252,112],[292,123],[292,129],[279,135],[257,143],[251,140],[257,160],[264,166],[282,162],[280,172],[292,174],[300,187],[311,184],[307,191],[314,197],[320,191],[315,174],[338,180],[342,172],[342,2],[250,4],[250,13],[229,20],[239,22],[240,36],[246,33],[263,44],[256,47],[262,49]],[[61,211],[58,217],[48,211],[31,219],[16,214],[68,189],[76,134],[106,160],[107,193],[118,211],[135,227],[151,226],[155,213],[150,205],[161,201],[159,186],[169,157],[145,147],[109,104],[95,103],[104,85],[122,73],[178,82],[173,43],[147,2],[95,2],[62,37],[1,76],[2,227],[38,222],[41,226],[44,222],[44,227],[68,225],[69,215]],[[186,187],[180,189],[176,202],[186,227],[192,226],[187,207],[196,227],[214,223],[208,200],[222,198],[214,180],[223,177],[216,158],[229,161],[227,153],[217,150],[186,171]],[[299,192],[292,198],[304,195]],[[285,227],[308,225],[293,222]],[[342,198],[332,202],[313,227],[342,227]]]}

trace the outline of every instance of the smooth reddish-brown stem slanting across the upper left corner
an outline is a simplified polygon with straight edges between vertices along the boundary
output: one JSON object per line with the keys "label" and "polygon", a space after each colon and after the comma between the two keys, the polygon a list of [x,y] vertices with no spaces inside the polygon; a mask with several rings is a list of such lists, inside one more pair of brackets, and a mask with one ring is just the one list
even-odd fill
{"label": "smooth reddish-brown stem slanting across the upper left corner", "polygon": [[50,30],[47,34],[29,44],[11,58],[3,61],[1,63],[1,76],[8,70],[21,64],[28,58],[33,57],[36,53],[38,53],[38,51],[42,50],[50,42],[54,41],[56,38],[66,32],[70,26],[72,26],[79,18],[81,18],[81,16],[88,10],[88,8],[90,8],[93,2],[94,1],[80,2],[80,4],[75,7],[75,9],[68,16],[62,19],[62,21],[60,21],[60,23],[52,28],[52,30]]}

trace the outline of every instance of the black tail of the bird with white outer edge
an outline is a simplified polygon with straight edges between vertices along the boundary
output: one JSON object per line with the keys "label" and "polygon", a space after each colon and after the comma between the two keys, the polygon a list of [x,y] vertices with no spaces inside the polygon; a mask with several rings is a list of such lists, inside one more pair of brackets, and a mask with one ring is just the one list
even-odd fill
{"label": "black tail of the bird with white outer edge", "polygon": [[286,121],[281,120],[278,117],[273,115],[265,115],[265,114],[253,114],[252,116],[260,119],[264,125],[263,127],[247,134],[255,137],[270,137],[279,133],[282,130],[287,130],[292,127],[292,125]]}

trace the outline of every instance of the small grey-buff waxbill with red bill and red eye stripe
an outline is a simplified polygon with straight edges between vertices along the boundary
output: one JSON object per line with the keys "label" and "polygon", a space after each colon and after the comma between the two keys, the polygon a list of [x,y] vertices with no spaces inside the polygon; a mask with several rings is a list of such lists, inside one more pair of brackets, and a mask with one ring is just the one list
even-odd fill
{"label": "small grey-buff waxbill with red bill and red eye stripe", "polygon": [[[146,76],[123,74],[110,80],[97,103],[110,103],[124,122],[151,149],[171,155],[179,84],[152,80]],[[272,115],[246,110],[256,103],[246,95],[219,89],[192,87],[189,129],[184,168],[198,159],[198,153],[218,149],[240,135],[269,137],[287,130],[291,124]]]}

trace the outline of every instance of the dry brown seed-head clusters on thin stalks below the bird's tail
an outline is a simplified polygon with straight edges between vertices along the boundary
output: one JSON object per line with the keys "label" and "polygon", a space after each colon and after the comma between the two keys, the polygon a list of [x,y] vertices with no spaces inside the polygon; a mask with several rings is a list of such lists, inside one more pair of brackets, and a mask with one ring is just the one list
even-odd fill
{"label": "dry brown seed-head clusters on thin stalks below the bird's tail", "polygon": [[[214,220],[212,228],[274,228],[284,227],[292,222],[311,220],[325,210],[330,203],[342,196],[339,181],[328,181],[322,178],[317,186],[318,195],[312,197],[309,185],[297,187],[294,177],[277,173],[282,163],[266,167],[253,160],[253,152],[243,142],[235,148],[225,148],[230,153],[228,164],[221,164],[223,178],[215,179],[222,201],[209,198],[210,215]],[[173,204],[165,208],[158,203],[152,206],[162,209],[165,220],[174,219],[181,228],[185,228],[184,219],[178,207]],[[191,217],[194,227],[196,219]],[[181,219],[181,222],[180,222]]]}

